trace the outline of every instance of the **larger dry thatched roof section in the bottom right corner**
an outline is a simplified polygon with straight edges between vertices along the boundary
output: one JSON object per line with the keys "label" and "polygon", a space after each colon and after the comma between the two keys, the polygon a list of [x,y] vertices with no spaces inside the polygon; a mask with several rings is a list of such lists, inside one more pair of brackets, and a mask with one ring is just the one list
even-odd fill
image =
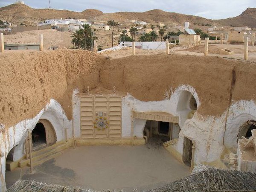
{"label": "larger dry thatched roof section in the bottom right corner", "polygon": [[209,168],[148,192],[185,191],[256,191],[256,174]]}

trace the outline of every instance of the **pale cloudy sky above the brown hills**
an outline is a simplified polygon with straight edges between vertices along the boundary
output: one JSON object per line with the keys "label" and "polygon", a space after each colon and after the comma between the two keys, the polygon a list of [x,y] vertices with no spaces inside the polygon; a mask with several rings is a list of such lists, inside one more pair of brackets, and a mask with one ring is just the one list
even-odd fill
{"label": "pale cloudy sky above the brown hills", "polygon": [[[15,3],[15,0],[0,0],[0,7]],[[32,8],[48,8],[49,0],[24,0]],[[240,15],[246,8],[256,7],[256,0],[50,0],[51,8],[81,12],[99,9],[111,12],[145,12],[162,9],[207,19],[224,19]]]}

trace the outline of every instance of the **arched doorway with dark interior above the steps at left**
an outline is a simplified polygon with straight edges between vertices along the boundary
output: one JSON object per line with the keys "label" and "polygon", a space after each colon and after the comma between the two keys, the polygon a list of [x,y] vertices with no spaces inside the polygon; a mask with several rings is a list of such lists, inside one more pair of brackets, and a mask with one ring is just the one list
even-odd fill
{"label": "arched doorway with dark interior above the steps at left", "polygon": [[56,134],[52,124],[47,119],[40,119],[32,131],[33,148],[41,148],[56,143]]}

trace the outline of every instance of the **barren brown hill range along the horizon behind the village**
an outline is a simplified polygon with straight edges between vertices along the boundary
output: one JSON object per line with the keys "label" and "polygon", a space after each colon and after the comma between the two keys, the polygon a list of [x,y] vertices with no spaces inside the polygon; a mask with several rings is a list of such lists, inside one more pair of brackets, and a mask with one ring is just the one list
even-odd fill
{"label": "barren brown hill range along the horizon behind the village", "polygon": [[60,18],[90,19],[96,21],[116,20],[118,22],[127,22],[128,20],[143,20],[147,23],[167,23],[183,24],[185,21],[190,23],[208,23],[212,25],[223,26],[250,26],[256,27],[256,8],[248,8],[237,17],[211,20],[204,17],[193,15],[184,15],[180,13],[165,12],[159,9],[147,12],[116,12],[103,13],[96,9],[86,9],[83,12],[72,12],[68,10],[56,9],[33,9],[22,4],[12,4],[0,8],[0,20],[9,20],[13,23],[26,23],[35,25],[39,21],[46,19]]}

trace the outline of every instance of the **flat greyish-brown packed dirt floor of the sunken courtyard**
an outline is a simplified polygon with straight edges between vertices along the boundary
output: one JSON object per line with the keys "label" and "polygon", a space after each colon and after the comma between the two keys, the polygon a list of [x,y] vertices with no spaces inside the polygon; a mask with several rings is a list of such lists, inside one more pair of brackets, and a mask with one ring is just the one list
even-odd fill
{"label": "flat greyish-brown packed dirt floor of the sunken courtyard", "polygon": [[19,178],[84,189],[153,189],[190,174],[160,143],[139,146],[81,146],[35,167],[6,172],[10,187]]}

